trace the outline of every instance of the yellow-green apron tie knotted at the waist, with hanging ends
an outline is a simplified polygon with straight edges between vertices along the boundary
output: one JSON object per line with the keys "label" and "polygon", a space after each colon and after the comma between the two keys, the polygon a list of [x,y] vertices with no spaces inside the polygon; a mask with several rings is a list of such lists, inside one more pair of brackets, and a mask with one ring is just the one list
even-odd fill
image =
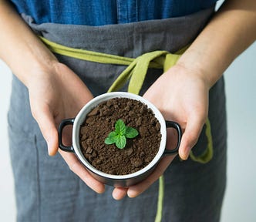
{"label": "yellow-green apron tie knotted at the waist, with hanging ends", "polygon": [[[99,62],[103,64],[121,65],[127,66],[127,68],[118,76],[113,85],[110,86],[108,92],[118,91],[121,89],[126,82],[129,82],[128,92],[139,94],[140,89],[143,86],[144,79],[147,75],[147,69],[163,69],[166,72],[167,69],[174,66],[183,52],[187,49],[181,49],[180,51],[172,54],[167,51],[153,51],[147,52],[140,55],[136,59],[123,57],[119,55],[110,55],[101,52],[93,52],[84,49],[73,49],[66,47],[64,45],[59,45],[56,42],[51,42],[48,39],[39,37],[48,48],[57,54],[66,55],[76,59],[82,59],[89,62]],[[200,156],[195,156],[192,151],[190,151],[190,158],[198,163],[207,163],[211,160],[213,156],[213,142],[211,137],[211,124],[207,118],[206,130],[207,136],[207,147],[204,153]],[[163,213],[163,196],[164,196],[164,179],[163,175],[159,179],[159,194],[157,202],[157,216],[155,221],[161,221]]]}

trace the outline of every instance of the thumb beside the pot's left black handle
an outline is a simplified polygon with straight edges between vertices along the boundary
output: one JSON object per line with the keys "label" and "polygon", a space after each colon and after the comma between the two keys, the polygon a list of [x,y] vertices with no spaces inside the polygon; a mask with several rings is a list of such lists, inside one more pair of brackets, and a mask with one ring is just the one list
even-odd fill
{"label": "thumb beside the pot's left black handle", "polygon": [[56,129],[55,119],[53,118],[49,106],[36,109],[36,111],[33,112],[33,116],[39,124],[42,136],[45,138],[49,156],[54,156],[59,149],[58,130]]}

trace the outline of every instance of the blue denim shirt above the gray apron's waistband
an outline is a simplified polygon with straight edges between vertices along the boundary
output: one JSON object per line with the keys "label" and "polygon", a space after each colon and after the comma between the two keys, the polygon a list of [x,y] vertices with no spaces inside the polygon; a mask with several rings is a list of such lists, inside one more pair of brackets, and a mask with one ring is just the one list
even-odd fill
{"label": "blue denim shirt above the gray apron's waistband", "polygon": [[217,0],[12,0],[35,23],[109,25],[173,18],[211,8]]}

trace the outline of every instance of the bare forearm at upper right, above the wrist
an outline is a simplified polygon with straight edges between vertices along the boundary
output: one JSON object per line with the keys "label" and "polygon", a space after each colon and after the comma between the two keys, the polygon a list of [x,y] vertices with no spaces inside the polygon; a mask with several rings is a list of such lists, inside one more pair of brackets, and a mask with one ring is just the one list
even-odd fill
{"label": "bare forearm at upper right, above the wrist", "polygon": [[255,39],[256,2],[226,1],[177,64],[197,72],[211,87]]}

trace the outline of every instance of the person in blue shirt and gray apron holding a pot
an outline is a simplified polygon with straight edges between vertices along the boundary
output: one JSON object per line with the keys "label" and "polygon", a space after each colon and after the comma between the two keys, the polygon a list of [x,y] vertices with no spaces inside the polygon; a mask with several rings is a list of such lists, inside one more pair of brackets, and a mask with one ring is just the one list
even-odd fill
{"label": "person in blue shirt and gray apron holding a pot", "polygon": [[[222,73],[256,39],[256,2],[229,0],[217,13],[216,1],[205,2],[1,0],[0,58],[15,74],[8,129],[18,221],[153,221],[154,182],[163,173],[163,221],[220,220],[226,179]],[[149,70],[141,91],[165,119],[180,123],[178,156],[186,161],[164,157],[147,179],[113,188],[94,179],[72,153],[58,150],[60,121],[105,93],[125,67],[52,53],[39,35],[132,58],[190,44],[167,72]],[[202,164],[189,155],[193,147],[204,152],[207,116],[214,156]]]}

